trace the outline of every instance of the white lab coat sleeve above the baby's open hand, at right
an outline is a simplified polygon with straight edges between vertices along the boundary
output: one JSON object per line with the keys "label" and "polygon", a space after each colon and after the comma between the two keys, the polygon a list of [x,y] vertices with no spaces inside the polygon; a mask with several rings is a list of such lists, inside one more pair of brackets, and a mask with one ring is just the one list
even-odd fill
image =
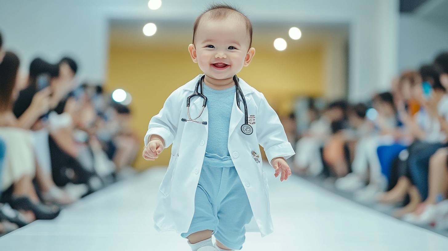
{"label": "white lab coat sleeve above the baby's open hand, at right", "polygon": [[276,157],[288,159],[295,154],[291,143],[288,142],[283,125],[274,109],[267,103],[263,94],[256,115],[256,131],[258,143],[264,151],[271,164]]}

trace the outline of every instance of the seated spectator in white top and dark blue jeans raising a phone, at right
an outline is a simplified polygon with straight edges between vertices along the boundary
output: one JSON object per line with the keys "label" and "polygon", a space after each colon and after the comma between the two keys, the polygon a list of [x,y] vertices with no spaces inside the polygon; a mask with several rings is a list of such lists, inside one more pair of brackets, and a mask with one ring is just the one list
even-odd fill
{"label": "seated spectator in white top and dark blue jeans raising a phone, at right", "polygon": [[[408,193],[410,202],[394,214],[396,217],[405,215],[406,221],[413,221],[415,217],[409,213],[414,212],[422,199],[426,199],[428,195],[429,160],[444,146],[447,135],[441,130],[438,118],[448,115],[448,111],[444,112],[444,108],[448,108],[448,96],[439,82],[439,72],[432,65],[424,65],[420,69],[420,75],[423,81],[431,83],[431,95],[423,93],[422,85],[416,85],[414,95],[421,103],[420,111],[414,118],[409,117],[405,111],[400,115],[416,140],[399,156],[401,160],[397,162],[396,170],[400,174],[396,185],[378,198],[381,202],[395,203],[404,199]],[[435,109],[429,104],[433,104]]]}

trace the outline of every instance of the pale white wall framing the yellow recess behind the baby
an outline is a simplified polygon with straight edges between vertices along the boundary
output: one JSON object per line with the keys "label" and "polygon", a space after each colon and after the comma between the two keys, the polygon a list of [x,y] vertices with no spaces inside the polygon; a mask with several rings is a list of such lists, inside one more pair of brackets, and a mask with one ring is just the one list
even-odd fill
{"label": "pale white wall framing the yellow recess behind the baby", "polygon": [[[26,69],[34,56],[56,61],[78,59],[79,77],[104,80],[109,18],[148,21],[194,18],[211,0],[162,0],[159,10],[147,0],[4,0],[0,31],[6,48],[18,52]],[[349,98],[364,100],[397,73],[397,0],[241,0],[237,4],[253,22],[349,23]],[[286,36],[287,30],[285,30]]]}

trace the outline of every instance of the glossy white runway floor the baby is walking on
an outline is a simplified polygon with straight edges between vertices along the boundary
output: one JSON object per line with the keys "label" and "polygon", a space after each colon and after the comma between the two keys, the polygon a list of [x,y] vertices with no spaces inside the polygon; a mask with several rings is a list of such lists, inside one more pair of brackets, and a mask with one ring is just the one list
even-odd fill
{"label": "glossy white runway floor the baby is walking on", "polygon": [[[409,225],[299,177],[269,171],[275,232],[247,233],[245,251],[448,251],[448,238]],[[157,233],[152,212],[165,169],[150,169],[0,238],[0,251],[189,251],[173,232]]]}

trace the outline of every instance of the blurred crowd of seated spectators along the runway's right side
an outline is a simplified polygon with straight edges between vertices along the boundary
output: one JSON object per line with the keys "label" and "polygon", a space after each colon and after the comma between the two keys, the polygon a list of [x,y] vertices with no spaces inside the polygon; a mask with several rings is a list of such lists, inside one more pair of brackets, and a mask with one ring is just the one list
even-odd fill
{"label": "blurred crowd of seated spectators along the runway's right side", "polygon": [[283,123],[293,172],[392,215],[448,229],[448,52],[403,72],[365,103],[301,98]]}

